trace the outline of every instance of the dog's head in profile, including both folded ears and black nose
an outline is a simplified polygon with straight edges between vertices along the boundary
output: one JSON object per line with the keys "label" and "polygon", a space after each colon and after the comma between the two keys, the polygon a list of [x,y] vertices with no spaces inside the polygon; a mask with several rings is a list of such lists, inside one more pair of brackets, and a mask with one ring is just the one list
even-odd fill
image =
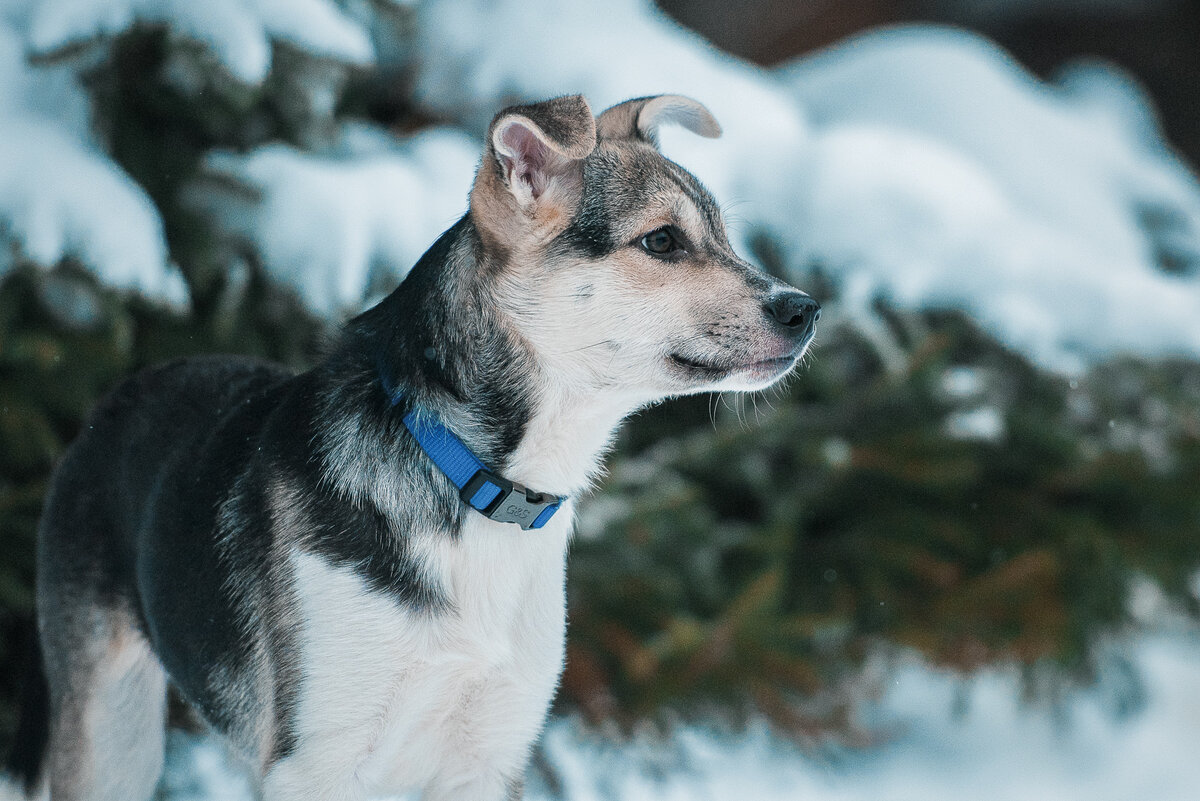
{"label": "dog's head in profile, including both folded ears and black nose", "polygon": [[472,192],[496,302],[551,381],[634,403],[764,389],[803,355],[820,306],[733,252],[713,197],[655,147],[664,122],[720,133],[678,96],[595,120],[582,97],[497,116]]}

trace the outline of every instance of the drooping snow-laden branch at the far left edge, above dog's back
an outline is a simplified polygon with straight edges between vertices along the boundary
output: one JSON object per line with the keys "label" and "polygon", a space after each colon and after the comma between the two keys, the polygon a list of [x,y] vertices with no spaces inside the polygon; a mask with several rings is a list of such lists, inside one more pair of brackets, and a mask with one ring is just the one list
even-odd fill
{"label": "drooping snow-laden branch at the far left edge, above dog's back", "polygon": [[22,260],[74,258],[114,287],[185,302],[154,204],[90,143],[72,76],[28,65],[12,19],[0,16],[0,276],[14,246]]}

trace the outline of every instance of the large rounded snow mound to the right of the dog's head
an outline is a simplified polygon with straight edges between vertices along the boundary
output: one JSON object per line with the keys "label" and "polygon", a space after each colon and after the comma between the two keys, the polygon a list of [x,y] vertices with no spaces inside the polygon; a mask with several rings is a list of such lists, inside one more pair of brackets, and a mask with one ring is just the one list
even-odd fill
{"label": "large rounded snow mound to the right of the dog's head", "polygon": [[1200,354],[1200,185],[1140,90],[989,41],[868,34],[782,72],[815,128],[796,254],[865,305],[970,309],[1036,359]]}

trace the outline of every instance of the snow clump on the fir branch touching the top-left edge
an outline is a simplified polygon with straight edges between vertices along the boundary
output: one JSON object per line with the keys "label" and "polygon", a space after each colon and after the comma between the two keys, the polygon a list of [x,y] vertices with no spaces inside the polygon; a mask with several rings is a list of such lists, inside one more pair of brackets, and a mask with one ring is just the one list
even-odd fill
{"label": "snow clump on the fir branch touching the top-left edge", "polygon": [[331,0],[40,0],[29,42],[53,54],[138,23],[200,44],[251,85],[270,72],[272,42],[352,65],[373,59],[367,31]]}

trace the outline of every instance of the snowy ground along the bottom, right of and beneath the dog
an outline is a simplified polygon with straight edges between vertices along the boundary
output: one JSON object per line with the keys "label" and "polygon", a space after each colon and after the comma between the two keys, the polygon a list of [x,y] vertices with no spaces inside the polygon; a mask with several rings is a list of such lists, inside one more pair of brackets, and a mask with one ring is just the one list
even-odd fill
{"label": "snowy ground along the bottom, right of and beneath the dog", "polygon": [[[1200,787],[1200,632],[1128,644],[1146,695],[1106,689],[1052,709],[1024,705],[1015,671],[967,683],[914,661],[888,673],[869,722],[890,736],[860,749],[802,752],[764,725],[736,736],[695,727],[616,743],[554,721],[545,735],[566,801],[1194,801]],[[1102,685],[1103,687],[1103,685]],[[1136,692],[1134,693],[1136,695]],[[1122,695],[1128,700],[1127,695]],[[246,783],[211,741],[174,740],[168,801],[242,801]]]}

